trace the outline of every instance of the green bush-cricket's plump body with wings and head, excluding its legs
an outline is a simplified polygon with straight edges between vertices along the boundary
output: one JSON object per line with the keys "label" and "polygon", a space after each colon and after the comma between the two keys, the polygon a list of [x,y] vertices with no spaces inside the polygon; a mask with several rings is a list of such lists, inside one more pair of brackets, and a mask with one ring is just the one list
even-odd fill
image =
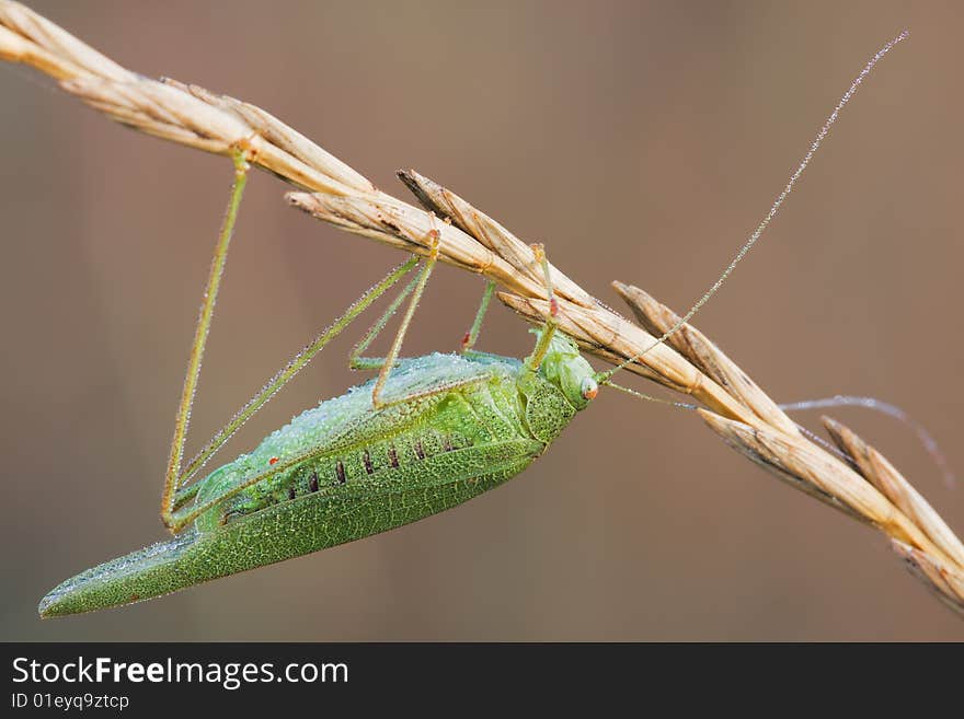
{"label": "green bush-cricket's plump body with wings and head, excluding its legs", "polygon": [[[578,409],[588,363],[564,337],[539,370],[494,355],[400,360],[322,402],[203,479],[196,502],[277,462],[284,472],[217,503],[191,529],[67,580],[43,616],[128,604],[414,522],[498,486],[546,451]],[[418,396],[422,395],[422,396]],[[392,404],[395,397],[412,397]]]}

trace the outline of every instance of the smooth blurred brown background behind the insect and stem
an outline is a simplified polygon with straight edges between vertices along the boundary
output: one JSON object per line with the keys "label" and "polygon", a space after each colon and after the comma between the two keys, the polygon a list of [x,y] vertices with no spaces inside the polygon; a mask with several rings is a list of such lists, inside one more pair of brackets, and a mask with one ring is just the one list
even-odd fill
{"label": "smooth blurred brown background behind the insect and stem", "polygon": [[[865,60],[909,27],[696,324],[782,401],[902,405],[964,472],[960,5],[32,4],[127,67],[267,108],[399,196],[394,170],[418,169],[547,242],[605,301],[618,278],[678,310],[756,227]],[[162,536],[162,469],[230,166],[11,66],[0,152],[0,638],[964,639],[882,536],[697,417],[617,393],[524,475],[451,512],[163,600],[38,621],[56,583]],[[188,451],[401,258],[287,208],[285,189],[251,183]],[[406,352],[454,349],[481,289],[436,272]],[[222,457],[357,383],[345,357],[363,329]],[[525,330],[500,305],[481,344],[520,356]],[[964,531],[964,489],[944,486],[911,431],[834,414]]]}

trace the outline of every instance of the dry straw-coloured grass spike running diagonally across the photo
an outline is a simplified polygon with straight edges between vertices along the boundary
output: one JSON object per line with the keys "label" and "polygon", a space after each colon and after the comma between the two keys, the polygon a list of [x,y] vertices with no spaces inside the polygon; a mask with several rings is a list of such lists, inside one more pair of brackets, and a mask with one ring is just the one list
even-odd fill
{"label": "dry straw-coloured grass spike running diagonally across the photo", "polygon": [[[380,192],[363,175],[265,111],[174,80],[124,69],[16,2],[0,0],[0,58],[33,66],[88,105],[134,129],[219,154],[245,150],[253,164],[298,188],[288,201],[313,217],[425,255],[439,232],[440,259],[498,283],[526,320],[548,311],[532,250],[498,222],[413,170],[400,173],[425,209]],[[445,218],[440,222],[438,218]],[[812,441],[728,357],[687,324],[655,344],[678,317],[644,291],[613,282],[640,325],[551,268],[563,332],[611,363],[702,405],[730,447],[805,494],[883,532],[911,572],[964,614],[964,545],[907,479],[844,425],[824,418],[840,454]],[[643,353],[645,352],[645,353]]]}

